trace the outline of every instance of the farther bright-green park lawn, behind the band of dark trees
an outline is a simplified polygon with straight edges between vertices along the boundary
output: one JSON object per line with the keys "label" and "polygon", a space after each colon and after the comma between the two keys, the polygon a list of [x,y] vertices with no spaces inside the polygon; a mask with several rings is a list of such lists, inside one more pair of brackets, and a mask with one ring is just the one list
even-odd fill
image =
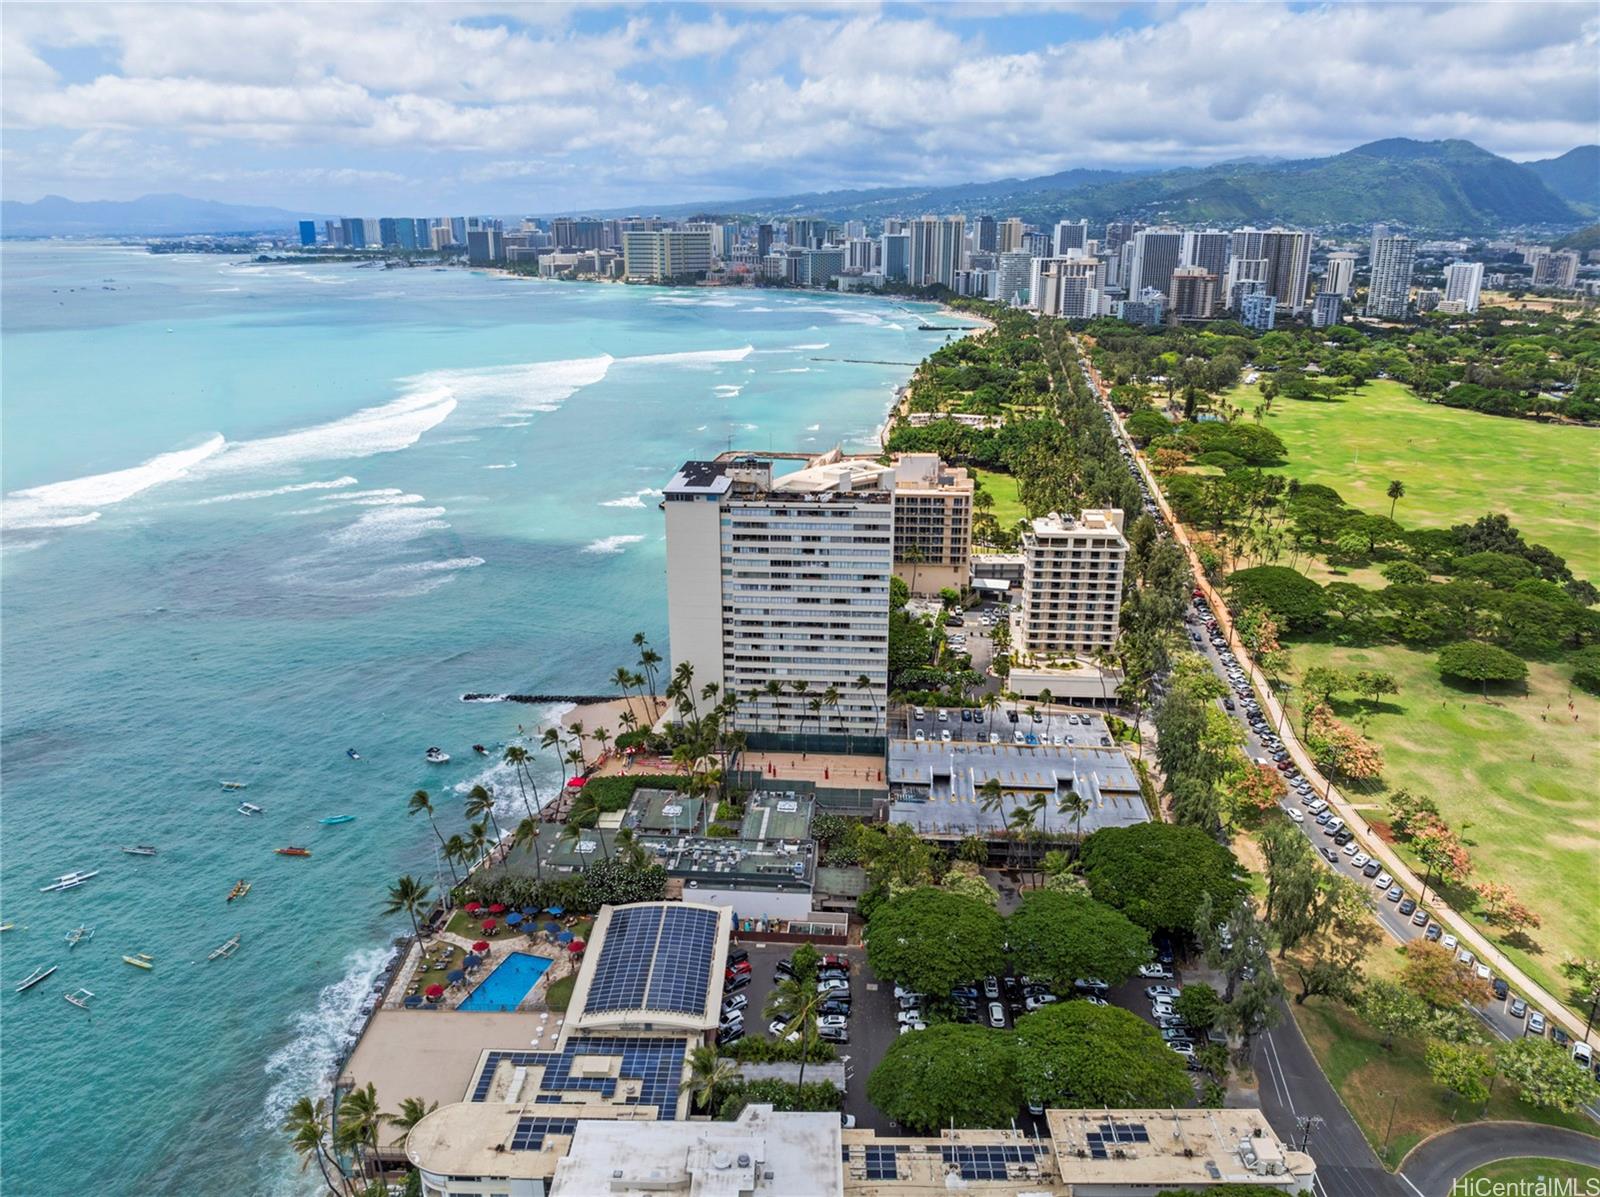
{"label": "farther bright-green park lawn, behind the band of dark trees", "polygon": [[[1246,411],[1259,402],[1254,386],[1237,387],[1229,400]],[[1278,398],[1262,426],[1288,446],[1280,472],[1333,486],[1362,510],[1387,515],[1384,490],[1398,478],[1406,494],[1395,518],[1403,526],[1446,528],[1506,512],[1573,573],[1600,579],[1600,429],[1424,403],[1398,382],[1368,382],[1331,403]]]}

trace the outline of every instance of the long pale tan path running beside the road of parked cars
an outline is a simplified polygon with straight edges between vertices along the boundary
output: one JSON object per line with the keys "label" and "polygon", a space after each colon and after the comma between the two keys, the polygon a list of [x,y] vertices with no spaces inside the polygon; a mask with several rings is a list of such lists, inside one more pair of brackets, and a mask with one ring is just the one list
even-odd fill
{"label": "long pale tan path running beside the road of parked cars", "polygon": [[[1075,338],[1074,346],[1077,346]],[[1379,861],[1384,869],[1394,875],[1398,885],[1405,887],[1413,895],[1421,895],[1421,879],[1411,872],[1411,867],[1400,858],[1389,842],[1379,837],[1371,826],[1368,826],[1365,816],[1362,815],[1363,808],[1346,799],[1333,786],[1333,783],[1322,775],[1310,754],[1299,743],[1299,736],[1294,735],[1294,727],[1290,722],[1288,714],[1283,711],[1283,706],[1278,703],[1277,695],[1272,691],[1266,674],[1256,667],[1256,661],[1250,650],[1234,635],[1234,619],[1227,610],[1227,603],[1216,587],[1213,587],[1206,579],[1205,570],[1200,566],[1200,557],[1195,554],[1195,546],[1189,538],[1189,530],[1178,522],[1173,509],[1166,504],[1166,494],[1162,491],[1162,486],[1155,478],[1155,472],[1149,467],[1149,462],[1146,462],[1144,454],[1134,448],[1133,440],[1128,437],[1128,429],[1122,422],[1122,416],[1117,414],[1117,410],[1106,397],[1106,386],[1101,382],[1099,373],[1082,354],[1078,355],[1078,362],[1085,370],[1088,370],[1090,378],[1093,379],[1094,394],[1099,398],[1101,406],[1106,408],[1106,414],[1110,416],[1112,427],[1117,429],[1117,435],[1122,437],[1123,443],[1133,453],[1133,461],[1138,466],[1139,474],[1144,475],[1155,504],[1162,509],[1162,515],[1166,518],[1166,525],[1171,528],[1173,538],[1178,541],[1184,554],[1187,554],[1189,568],[1195,576],[1195,586],[1198,586],[1202,594],[1205,594],[1206,602],[1211,605],[1211,615],[1216,618],[1218,626],[1224,629],[1229,643],[1234,645],[1234,655],[1238,658],[1245,675],[1250,679],[1267,719],[1278,728],[1278,738],[1283,741],[1283,747],[1288,751],[1290,759],[1294,762],[1296,768],[1306,775],[1306,779],[1328,799],[1328,803],[1339,811],[1339,816],[1346,821],[1350,831],[1355,832],[1355,839],[1360,842],[1362,850],[1373,859]],[[1446,906],[1437,891],[1430,893],[1427,909],[1438,922],[1445,923],[1461,938],[1464,947],[1470,947],[1477,954],[1478,960],[1493,967],[1512,984],[1512,987],[1522,991],[1528,1000],[1542,1008],[1549,1018],[1554,1018],[1566,1027],[1573,1039],[1586,1039],[1584,1021],[1581,1018],[1568,1010],[1560,999],[1536,984],[1533,978],[1522,971],[1522,968],[1512,963],[1510,957],[1494,946],[1474,923],[1467,922],[1466,917]]]}

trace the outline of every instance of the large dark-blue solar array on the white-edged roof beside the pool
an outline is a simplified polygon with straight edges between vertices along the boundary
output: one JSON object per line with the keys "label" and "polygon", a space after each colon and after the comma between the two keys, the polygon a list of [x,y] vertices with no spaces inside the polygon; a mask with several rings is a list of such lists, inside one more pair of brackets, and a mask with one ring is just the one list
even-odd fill
{"label": "large dark-blue solar array on the white-edged roof beside the pool", "polygon": [[706,1013],[717,923],[715,911],[680,906],[624,906],[613,911],[584,1013]]}

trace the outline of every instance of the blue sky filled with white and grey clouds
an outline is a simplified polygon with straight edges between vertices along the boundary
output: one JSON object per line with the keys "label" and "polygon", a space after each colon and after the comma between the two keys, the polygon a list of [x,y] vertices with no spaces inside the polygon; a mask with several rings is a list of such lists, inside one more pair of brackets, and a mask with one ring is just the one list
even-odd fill
{"label": "blue sky filled with white and grey clouds", "polygon": [[1597,139],[1600,6],[27,5],[6,198],[309,213],[731,200]]}

